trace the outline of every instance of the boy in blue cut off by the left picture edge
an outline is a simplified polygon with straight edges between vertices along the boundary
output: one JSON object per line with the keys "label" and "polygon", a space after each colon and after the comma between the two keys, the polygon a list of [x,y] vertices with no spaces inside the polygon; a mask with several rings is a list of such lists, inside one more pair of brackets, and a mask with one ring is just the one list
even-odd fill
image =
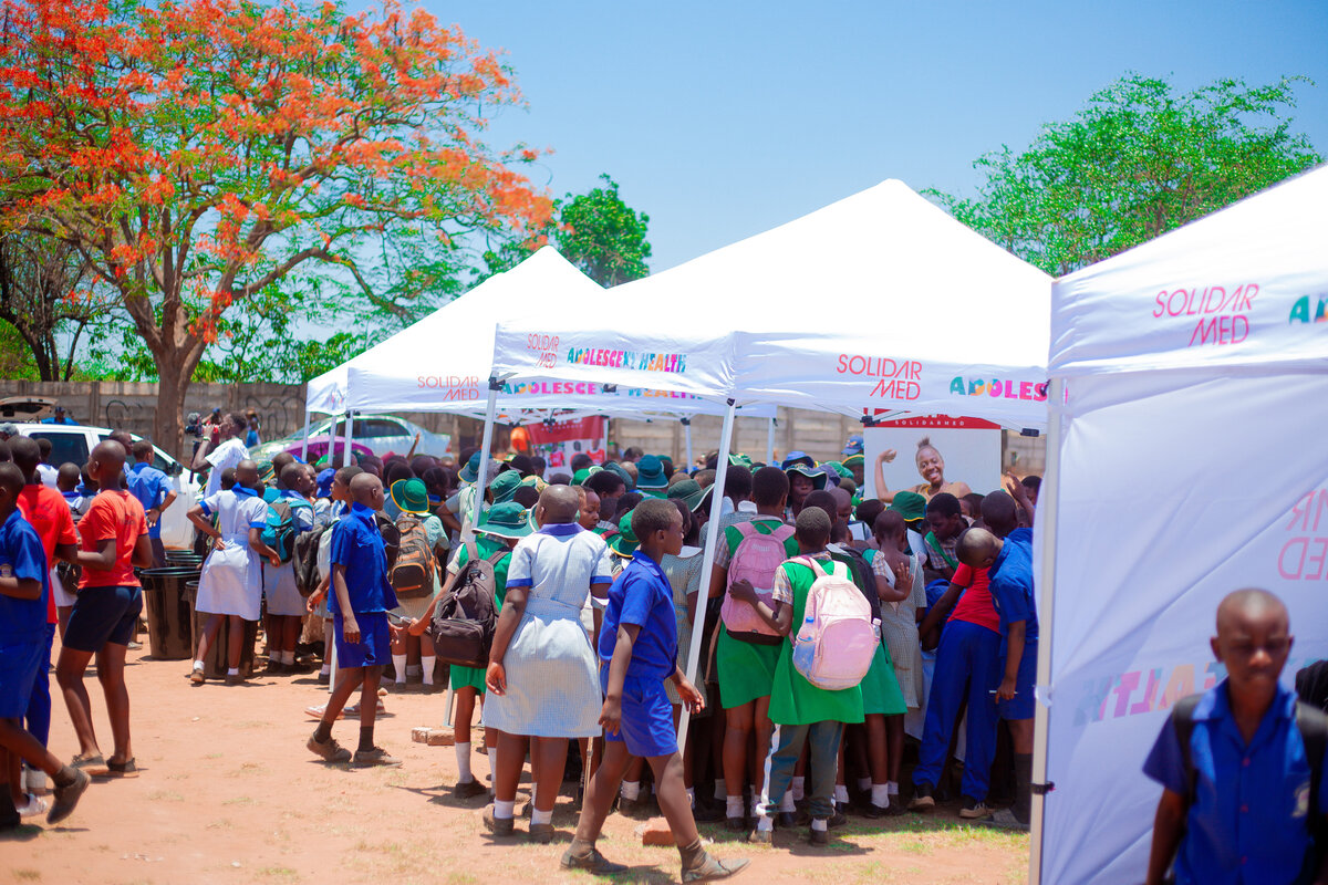
{"label": "boy in blue cut off by the left picture edge", "polygon": [[46,821],[68,817],[92,780],[86,772],[61,763],[20,720],[44,666],[46,594],[50,592],[46,552],[37,531],[19,512],[23,471],[0,463],[0,832],[19,825],[9,785],[17,767],[11,754],[40,768],[56,784],[56,801]]}

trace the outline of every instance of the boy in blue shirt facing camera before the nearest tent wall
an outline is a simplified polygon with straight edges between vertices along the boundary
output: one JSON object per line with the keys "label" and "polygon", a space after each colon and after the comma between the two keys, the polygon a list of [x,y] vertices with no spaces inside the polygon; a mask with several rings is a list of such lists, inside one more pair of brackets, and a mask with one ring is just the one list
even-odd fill
{"label": "boy in blue shirt facing camera before the nearest tent wall", "polygon": [[1267,590],[1236,590],[1218,606],[1211,645],[1227,678],[1177,705],[1190,711],[1187,747],[1173,713],[1143,763],[1163,787],[1147,885],[1165,881],[1173,858],[1177,885],[1328,882],[1312,832],[1328,813],[1328,796],[1311,784],[1323,759],[1311,764],[1301,732],[1328,726],[1279,682],[1292,642],[1287,606]]}

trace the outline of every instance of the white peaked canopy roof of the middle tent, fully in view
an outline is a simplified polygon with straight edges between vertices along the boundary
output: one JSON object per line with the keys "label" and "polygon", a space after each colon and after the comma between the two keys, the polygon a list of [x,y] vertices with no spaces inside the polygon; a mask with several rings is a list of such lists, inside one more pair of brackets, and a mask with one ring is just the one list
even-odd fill
{"label": "white peaked canopy roof of the middle tent, fully in view", "polygon": [[580,328],[503,321],[494,366],[740,403],[1041,427],[1049,293],[1045,273],[887,180],[618,287],[615,310]]}

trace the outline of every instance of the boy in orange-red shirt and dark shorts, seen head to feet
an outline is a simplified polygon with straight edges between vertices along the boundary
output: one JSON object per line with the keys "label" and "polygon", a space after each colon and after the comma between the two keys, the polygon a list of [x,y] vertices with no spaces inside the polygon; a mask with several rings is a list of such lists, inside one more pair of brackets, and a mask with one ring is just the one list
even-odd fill
{"label": "boy in orange-red shirt and dark shorts, seen head to feet", "polygon": [[[134,567],[153,564],[143,506],[120,487],[125,448],[104,442],[92,450],[88,474],[101,491],[78,523],[78,565],[82,579],[74,610],[69,614],[64,646],[56,662],[56,681],[65,695],[69,719],[78,735],[76,768],[90,775],[134,776],[129,743],[129,689],[125,686],[125,651],[134,638],[134,624],[143,610],[143,592]],[[116,751],[104,759],[92,727],[92,705],[84,687],[88,662],[97,655],[97,678],[106,695],[106,713]]]}

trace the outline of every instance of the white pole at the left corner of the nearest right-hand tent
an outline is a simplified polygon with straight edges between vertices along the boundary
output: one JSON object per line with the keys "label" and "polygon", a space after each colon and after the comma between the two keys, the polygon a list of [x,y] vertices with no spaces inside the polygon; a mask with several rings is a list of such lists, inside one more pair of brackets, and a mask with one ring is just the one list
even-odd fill
{"label": "white pole at the left corner of the nearest right-hand tent", "polygon": [[[1046,784],[1046,742],[1049,738],[1052,678],[1052,641],[1054,640],[1052,620],[1056,602],[1056,523],[1060,517],[1061,496],[1061,410],[1065,405],[1065,381],[1052,378],[1046,391],[1046,470],[1042,476],[1042,490],[1038,495],[1035,523],[1041,533],[1042,549],[1037,571],[1037,622],[1045,625],[1037,637],[1037,683],[1033,705],[1033,771],[1032,783]],[[1033,808],[1029,828],[1028,881],[1038,885],[1042,881],[1042,839],[1045,836],[1046,795],[1033,792]]]}

